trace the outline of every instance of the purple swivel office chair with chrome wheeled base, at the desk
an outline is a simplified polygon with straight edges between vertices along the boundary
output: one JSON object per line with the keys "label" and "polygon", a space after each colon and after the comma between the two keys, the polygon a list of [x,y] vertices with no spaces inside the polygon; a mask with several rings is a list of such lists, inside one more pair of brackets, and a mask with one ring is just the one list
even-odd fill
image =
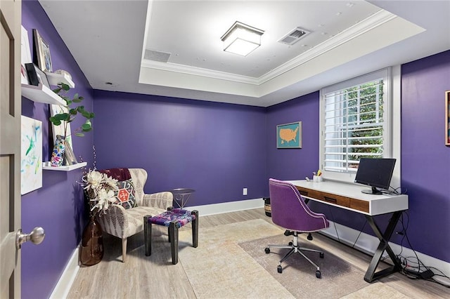
{"label": "purple swivel office chair with chrome wheeled base, at the desk", "polygon": [[[290,255],[297,252],[316,267],[316,277],[321,278],[320,267],[304,255],[302,251],[317,252],[319,253],[320,258],[323,258],[323,251],[299,247],[298,233],[311,233],[325,230],[329,227],[325,215],[311,211],[302,199],[300,192],[298,192],[297,188],[290,182],[283,182],[282,180],[275,180],[273,178],[269,179],[269,193],[272,221],[286,230],[285,235],[293,234],[294,236],[293,241],[291,241],[289,245],[268,245],[265,249],[266,253],[270,253],[271,247],[290,249],[290,251],[280,260],[280,263],[278,263],[278,273],[283,272],[281,263],[289,258]],[[312,238],[308,237],[308,239]]]}

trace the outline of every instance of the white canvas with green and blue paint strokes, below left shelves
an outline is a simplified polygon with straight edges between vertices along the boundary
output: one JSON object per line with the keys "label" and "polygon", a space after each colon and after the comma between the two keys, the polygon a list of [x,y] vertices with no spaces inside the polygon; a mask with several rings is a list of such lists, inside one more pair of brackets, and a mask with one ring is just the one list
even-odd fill
{"label": "white canvas with green and blue paint strokes, below left shelves", "polygon": [[42,187],[42,122],[21,118],[20,194]]}

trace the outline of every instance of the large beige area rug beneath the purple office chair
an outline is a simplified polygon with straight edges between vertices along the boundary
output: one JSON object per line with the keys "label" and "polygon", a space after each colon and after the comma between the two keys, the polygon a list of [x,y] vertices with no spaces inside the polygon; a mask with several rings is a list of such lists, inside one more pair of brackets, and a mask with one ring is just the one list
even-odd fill
{"label": "large beige area rug beneath the purple office chair", "polygon": [[[366,283],[364,272],[326,251],[323,259],[307,253],[321,267],[321,279],[300,255],[283,263],[279,274],[285,250],[266,254],[264,248],[291,238],[261,219],[200,229],[198,237],[193,248],[191,229],[179,232],[179,263],[198,298],[405,298],[385,284]],[[317,248],[314,241],[306,245]]]}

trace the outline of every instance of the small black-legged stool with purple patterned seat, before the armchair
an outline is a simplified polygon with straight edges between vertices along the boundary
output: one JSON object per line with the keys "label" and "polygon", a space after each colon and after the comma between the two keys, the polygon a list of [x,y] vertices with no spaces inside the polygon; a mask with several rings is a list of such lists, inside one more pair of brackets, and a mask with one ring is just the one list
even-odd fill
{"label": "small black-legged stool with purple patterned seat, before the armchair", "polygon": [[172,250],[172,264],[178,263],[178,229],[192,222],[192,246],[198,246],[198,211],[188,211],[181,208],[168,209],[160,215],[143,218],[143,235],[146,246],[146,256],[152,254],[152,224],[168,227],[169,242]]}

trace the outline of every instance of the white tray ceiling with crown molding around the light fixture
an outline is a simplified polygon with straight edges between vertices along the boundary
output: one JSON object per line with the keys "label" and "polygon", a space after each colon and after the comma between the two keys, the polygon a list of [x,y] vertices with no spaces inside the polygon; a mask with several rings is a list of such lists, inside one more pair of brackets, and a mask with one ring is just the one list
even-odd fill
{"label": "white tray ceiling with crown molding around the light fixture", "polygon": [[[450,1],[39,0],[92,88],[267,107],[450,49]],[[220,40],[264,30],[243,57]],[[311,32],[292,46],[296,27]],[[167,62],[144,59],[169,53]]]}

